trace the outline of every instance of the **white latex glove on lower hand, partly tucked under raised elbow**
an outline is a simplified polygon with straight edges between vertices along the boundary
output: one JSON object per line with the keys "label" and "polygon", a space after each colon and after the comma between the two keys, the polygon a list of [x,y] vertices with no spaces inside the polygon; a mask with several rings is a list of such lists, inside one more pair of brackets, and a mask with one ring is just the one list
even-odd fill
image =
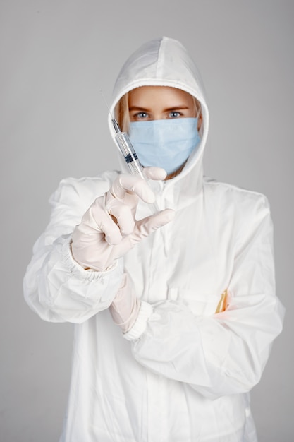
{"label": "white latex glove on lower hand, partly tucked under raised elbow", "polygon": [[121,327],[123,333],[126,333],[132,328],[140,310],[140,300],[137,299],[133,284],[126,273],[123,274],[121,287],[114,301],[112,301],[109,310],[114,323]]}

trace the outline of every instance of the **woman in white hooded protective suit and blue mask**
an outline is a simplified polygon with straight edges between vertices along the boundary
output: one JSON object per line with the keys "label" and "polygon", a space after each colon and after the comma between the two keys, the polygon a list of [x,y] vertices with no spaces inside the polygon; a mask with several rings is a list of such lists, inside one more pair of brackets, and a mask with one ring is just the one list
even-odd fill
{"label": "woman in white hooded protective suit and blue mask", "polygon": [[61,441],[257,441],[249,391],[283,316],[267,199],[204,179],[207,104],[176,40],[130,56],[111,113],[149,183],[61,181],[25,276],[41,318],[75,323]]}

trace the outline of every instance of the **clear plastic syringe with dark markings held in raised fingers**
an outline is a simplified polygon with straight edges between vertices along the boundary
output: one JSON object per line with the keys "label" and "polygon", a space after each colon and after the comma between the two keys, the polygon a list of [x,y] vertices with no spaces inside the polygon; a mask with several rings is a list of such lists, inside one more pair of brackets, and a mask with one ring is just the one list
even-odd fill
{"label": "clear plastic syringe with dark markings held in raised fingers", "polygon": [[[112,116],[111,116],[112,117]],[[142,179],[147,181],[144,174],[144,167],[141,165],[137,154],[135,153],[135,149],[133,148],[132,143],[130,142],[130,138],[128,138],[128,133],[122,132],[120,127],[118,126],[118,122],[116,119],[111,118],[112,124],[114,125],[114,130],[116,131],[116,143],[118,143],[118,148],[120,148],[121,153],[125,159],[125,162],[130,169],[130,173],[133,175],[140,175]],[[149,204],[149,208],[152,210],[152,213],[159,212],[159,207],[154,201],[154,203]]]}

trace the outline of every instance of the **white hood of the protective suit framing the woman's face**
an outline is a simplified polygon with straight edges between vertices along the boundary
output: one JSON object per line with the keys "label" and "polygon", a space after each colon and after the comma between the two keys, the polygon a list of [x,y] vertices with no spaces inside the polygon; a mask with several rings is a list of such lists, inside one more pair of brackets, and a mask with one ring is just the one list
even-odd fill
{"label": "white hood of the protective suit framing the woman's face", "polygon": [[[161,184],[152,183],[154,187],[160,188],[154,189],[154,191],[166,194],[166,199],[169,200],[166,201],[167,206],[177,208],[179,203],[180,205],[189,203],[190,198],[195,198],[195,194],[202,189],[202,156],[209,124],[202,80],[183,44],[169,37],[161,37],[143,44],[125,61],[114,85],[111,114],[114,114],[118,100],[126,92],[140,86],[178,88],[193,95],[201,103],[203,129],[199,148],[190,155],[185,167],[177,177]],[[115,133],[110,114],[109,129],[114,138]],[[122,169],[126,170],[123,163],[122,159]]]}

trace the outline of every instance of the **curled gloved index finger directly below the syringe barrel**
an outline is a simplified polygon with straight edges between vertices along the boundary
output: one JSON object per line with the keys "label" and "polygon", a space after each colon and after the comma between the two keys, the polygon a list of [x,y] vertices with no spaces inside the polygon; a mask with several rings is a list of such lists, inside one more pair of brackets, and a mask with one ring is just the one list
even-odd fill
{"label": "curled gloved index finger directly below the syringe barrel", "polygon": [[126,193],[135,193],[145,203],[154,203],[155,201],[154,193],[147,181],[137,175],[119,175],[113,182],[110,192],[118,199],[123,199]]}

